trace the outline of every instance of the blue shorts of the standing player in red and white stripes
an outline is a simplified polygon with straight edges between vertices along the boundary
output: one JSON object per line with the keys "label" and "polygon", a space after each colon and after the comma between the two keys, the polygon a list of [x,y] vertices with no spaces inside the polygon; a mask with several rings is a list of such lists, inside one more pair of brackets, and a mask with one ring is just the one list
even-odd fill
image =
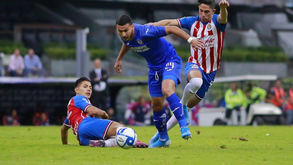
{"label": "blue shorts of the standing player in red and white stripes", "polygon": [[186,63],[185,65],[185,77],[187,79],[187,75],[191,70],[199,70],[202,75],[202,86],[200,89],[197,90],[195,93],[195,96],[202,100],[205,95],[207,94],[207,91],[212,86],[212,83],[214,82],[215,76],[217,71],[214,71],[212,73],[206,74],[202,71],[202,68],[200,68],[196,63]]}

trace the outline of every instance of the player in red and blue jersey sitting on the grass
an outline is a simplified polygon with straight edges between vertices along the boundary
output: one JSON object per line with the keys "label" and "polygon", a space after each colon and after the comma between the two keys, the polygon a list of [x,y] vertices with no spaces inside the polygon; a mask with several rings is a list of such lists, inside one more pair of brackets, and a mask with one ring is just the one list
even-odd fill
{"label": "player in red and blue jersey sitting on the grass", "polygon": [[[88,100],[92,93],[90,80],[85,77],[79,78],[75,82],[74,90],[76,96],[72,97],[68,103],[67,117],[61,127],[62,143],[69,144],[68,129],[71,128],[82,146],[118,146],[115,135],[125,126],[107,120],[108,114],[91,104]],[[146,148],[148,145],[138,141],[134,147]]]}

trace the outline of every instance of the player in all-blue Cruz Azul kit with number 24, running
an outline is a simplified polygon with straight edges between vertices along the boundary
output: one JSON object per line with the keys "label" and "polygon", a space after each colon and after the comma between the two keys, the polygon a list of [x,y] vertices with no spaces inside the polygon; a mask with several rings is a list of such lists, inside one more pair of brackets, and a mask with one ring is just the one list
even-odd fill
{"label": "player in all-blue Cruz Azul kit with number 24, running", "polygon": [[[175,26],[148,26],[132,23],[130,16],[121,15],[116,20],[116,28],[123,44],[115,63],[117,73],[122,71],[122,57],[130,48],[144,57],[149,67],[148,86],[151,95],[151,106],[154,112],[153,119],[159,133],[159,140],[150,145],[150,148],[167,147],[171,144],[166,128],[166,111],[163,107],[164,99],[178,120],[181,137],[188,139],[191,133],[187,127],[183,106],[175,94],[175,87],[180,84],[182,60],[177,55],[171,43],[163,36],[175,34],[185,40],[190,36]],[[188,42],[190,42],[188,40]],[[193,40],[193,48],[200,48],[200,42]]]}

